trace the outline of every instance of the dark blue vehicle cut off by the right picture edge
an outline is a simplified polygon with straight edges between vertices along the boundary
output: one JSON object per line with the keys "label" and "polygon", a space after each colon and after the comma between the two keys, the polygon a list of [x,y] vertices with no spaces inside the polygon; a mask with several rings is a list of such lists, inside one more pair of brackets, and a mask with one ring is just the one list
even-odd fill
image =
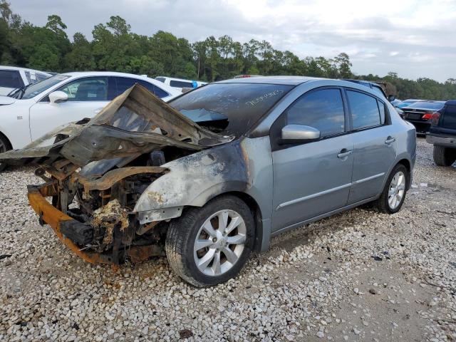
{"label": "dark blue vehicle cut off by the right picture edge", "polygon": [[426,141],[434,145],[434,162],[450,166],[456,161],[456,100],[432,114]]}

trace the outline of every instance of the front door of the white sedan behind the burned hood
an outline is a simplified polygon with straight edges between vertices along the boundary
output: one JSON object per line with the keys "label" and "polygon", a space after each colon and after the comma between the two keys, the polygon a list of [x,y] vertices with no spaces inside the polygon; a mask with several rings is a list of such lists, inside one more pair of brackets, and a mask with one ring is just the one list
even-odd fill
{"label": "front door of the white sedan behind the burned hood", "polygon": [[48,96],[30,108],[31,139],[36,140],[53,128],[83,118],[93,118],[113,99],[107,76],[78,78],[56,90],[68,95],[62,103],[50,103]]}

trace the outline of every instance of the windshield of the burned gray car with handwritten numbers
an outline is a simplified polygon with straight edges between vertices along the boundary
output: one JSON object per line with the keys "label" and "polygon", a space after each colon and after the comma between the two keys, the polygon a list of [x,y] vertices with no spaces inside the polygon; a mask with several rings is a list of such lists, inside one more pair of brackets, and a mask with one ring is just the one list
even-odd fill
{"label": "windshield of the burned gray car with handwritten numbers", "polygon": [[293,86],[258,83],[216,83],[170,102],[199,125],[227,135],[244,134]]}

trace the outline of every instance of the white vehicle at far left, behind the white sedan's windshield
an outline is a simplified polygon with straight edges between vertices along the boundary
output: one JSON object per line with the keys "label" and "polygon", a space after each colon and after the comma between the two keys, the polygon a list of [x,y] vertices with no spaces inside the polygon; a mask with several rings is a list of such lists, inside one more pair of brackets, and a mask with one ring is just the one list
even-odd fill
{"label": "white vehicle at far left, behind the white sedan's windshield", "polygon": [[11,90],[28,86],[51,77],[51,73],[16,66],[0,66],[0,95],[8,95]]}

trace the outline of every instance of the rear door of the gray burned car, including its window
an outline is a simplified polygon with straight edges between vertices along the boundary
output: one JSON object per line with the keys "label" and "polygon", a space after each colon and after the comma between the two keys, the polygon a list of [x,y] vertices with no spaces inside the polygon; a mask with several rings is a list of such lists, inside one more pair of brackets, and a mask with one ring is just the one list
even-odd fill
{"label": "rear door of the gray burned car, including its window", "polygon": [[395,130],[382,100],[346,90],[354,147],[353,179],[348,204],[375,197],[396,157]]}

